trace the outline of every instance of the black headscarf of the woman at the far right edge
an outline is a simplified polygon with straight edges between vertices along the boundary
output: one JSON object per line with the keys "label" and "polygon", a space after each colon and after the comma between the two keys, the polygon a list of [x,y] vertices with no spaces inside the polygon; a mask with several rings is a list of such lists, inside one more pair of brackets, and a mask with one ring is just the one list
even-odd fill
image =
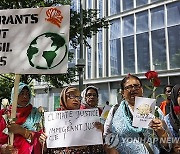
{"label": "black headscarf of the woman at the far right edge", "polygon": [[177,98],[178,98],[179,89],[180,89],[180,84],[177,84],[172,88],[171,104],[170,104],[170,123],[177,132],[179,132],[180,129],[180,117],[176,116],[173,107],[178,106]]}

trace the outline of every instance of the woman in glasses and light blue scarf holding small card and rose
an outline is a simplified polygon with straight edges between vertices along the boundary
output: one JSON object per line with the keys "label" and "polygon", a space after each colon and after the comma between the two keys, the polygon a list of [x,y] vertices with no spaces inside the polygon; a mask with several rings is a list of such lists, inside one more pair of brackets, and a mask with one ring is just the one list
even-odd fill
{"label": "woman in glasses and light blue scarf holding small card and rose", "polygon": [[[110,110],[105,122],[105,143],[119,153],[130,154],[159,154],[160,144],[169,148],[166,144],[168,134],[160,119],[151,121],[149,125],[152,129],[132,126],[135,97],[143,96],[141,80],[134,75],[128,75],[121,82],[121,90],[123,100],[116,111],[113,108]],[[160,118],[163,118],[160,109],[158,112]],[[159,142],[159,139],[164,142]]]}

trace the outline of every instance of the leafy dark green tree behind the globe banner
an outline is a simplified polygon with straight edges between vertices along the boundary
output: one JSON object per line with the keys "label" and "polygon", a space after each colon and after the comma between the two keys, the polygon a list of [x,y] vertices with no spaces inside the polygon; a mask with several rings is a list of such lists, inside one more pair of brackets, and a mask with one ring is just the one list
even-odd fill
{"label": "leafy dark green tree behind the globe banner", "polygon": [[[1,9],[19,9],[19,8],[36,8],[49,7],[57,4],[71,5],[71,0],[3,0],[0,1]],[[94,34],[100,31],[101,28],[108,28],[109,22],[105,18],[98,18],[99,11],[95,9],[83,10],[83,43],[89,46],[87,38],[91,38]],[[71,9],[70,17],[70,45],[77,48],[80,44],[80,13]],[[89,46],[90,47],[90,46]],[[69,52],[69,61],[74,58],[73,53]],[[76,81],[75,74],[77,68],[69,68],[67,74],[53,75],[22,75],[21,81],[30,83],[33,79],[37,81],[46,81],[55,87],[62,87],[64,83]],[[2,78],[4,80],[5,78]],[[2,82],[3,83],[3,82]],[[0,83],[0,86],[1,84]],[[11,87],[11,85],[9,86]],[[2,94],[3,95],[3,94]],[[1,96],[1,94],[0,94]]]}

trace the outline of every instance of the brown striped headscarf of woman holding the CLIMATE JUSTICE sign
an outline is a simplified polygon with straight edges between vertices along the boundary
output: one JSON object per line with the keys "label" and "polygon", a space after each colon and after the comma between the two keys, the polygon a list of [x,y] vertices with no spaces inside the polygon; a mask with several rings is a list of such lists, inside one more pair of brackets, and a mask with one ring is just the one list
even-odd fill
{"label": "brown striped headscarf of woman holding the CLIMATE JUSTICE sign", "polygon": [[77,88],[73,87],[73,86],[68,86],[65,87],[60,94],[60,106],[61,106],[61,110],[68,110],[67,108],[67,94],[70,92],[74,92],[74,91],[78,91]]}

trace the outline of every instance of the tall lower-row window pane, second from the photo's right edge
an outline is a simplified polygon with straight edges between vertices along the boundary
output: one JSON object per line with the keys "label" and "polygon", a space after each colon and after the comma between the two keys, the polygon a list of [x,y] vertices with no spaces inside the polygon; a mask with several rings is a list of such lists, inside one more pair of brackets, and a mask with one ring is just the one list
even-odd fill
{"label": "tall lower-row window pane, second from the photo's right edge", "polygon": [[167,69],[164,29],[152,32],[152,54],[155,70]]}

